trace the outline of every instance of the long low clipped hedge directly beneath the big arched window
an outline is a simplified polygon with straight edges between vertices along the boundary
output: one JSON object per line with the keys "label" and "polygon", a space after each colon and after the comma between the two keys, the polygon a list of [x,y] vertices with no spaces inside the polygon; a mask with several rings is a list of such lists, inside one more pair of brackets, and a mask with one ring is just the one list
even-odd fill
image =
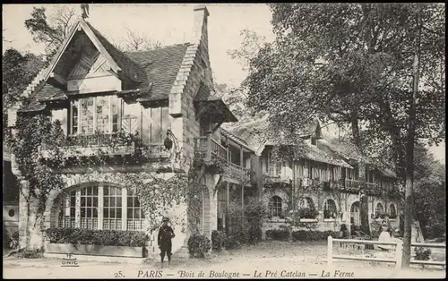
{"label": "long low clipped hedge directly beneath the big arched window", "polygon": [[45,234],[49,243],[143,247],[148,241],[148,235],[142,231],[51,227]]}

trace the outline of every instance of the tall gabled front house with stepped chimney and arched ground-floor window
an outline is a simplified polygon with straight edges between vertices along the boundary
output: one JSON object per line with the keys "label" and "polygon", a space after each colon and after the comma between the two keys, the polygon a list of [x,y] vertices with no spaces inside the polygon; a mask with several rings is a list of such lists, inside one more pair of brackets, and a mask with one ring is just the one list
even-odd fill
{"label": "tall gabled front house with stepped chimney and arched ground-floor window", "polygon": [[[63,176],[67,188],[48,195],[44,230],[146,231],[146,218],[154,214],[143,211],[129,186],[111,179],[126,173],[169,178],[197,168],[193,163],[198,159],[203,165],[219,159],[225,170],[222,177],[206,174],[202,178],[206,186],[202,190],[202,216],[196,217],[201,234],[210,238],[212,230],[226,227],[224,208],[230,200],[244,204],[244,199],[254,194],[258,163],[254,151],[245,141],[220,129],[222,123],[236,122],[237,118],[213,90],[208,18],[207,8],[197,6],[190,42],[138,52],[118,50],[84,19],[74,25],[49,67],[24,93],[30,95],[30,105],[17,112],[51,115],[52,120],[60,121],[65,134],[65,167],[54,172]],[[108,148],[106,143],[120,134],[133,136],[134,141]],[[167,138],[172,148],[164,144]],[[137,139],[149,154],[138,163],[130,161]],[[73,158],[89,160],[99,150],[114,159],[113,163],[72,165]],[[39,158],[51,163],[54,155],[44,144]],[[13,171],[26,191],[27,179],[17,169]],[[29,204],[21,196],[21,246],[39,247],[43,237],[28,231],[28,218],[35,208]],[[181,206],[160,214],[171,217],[185,214],[185,209]],[[187,220],[186,214],[179,219]],[[185,247],[190,229],[175,225],[174,251]],[[154,241],[151,234],[150,254],[158,251]]]}

